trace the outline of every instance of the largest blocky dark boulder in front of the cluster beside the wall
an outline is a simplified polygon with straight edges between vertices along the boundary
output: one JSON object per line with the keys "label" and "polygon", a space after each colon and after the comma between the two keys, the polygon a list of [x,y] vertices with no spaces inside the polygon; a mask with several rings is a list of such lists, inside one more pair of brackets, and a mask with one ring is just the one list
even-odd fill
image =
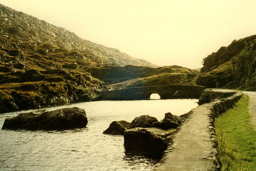
{"label": "largest blocky dark boulder in front of the cluster beside the wall", "polygon": [[124,131],[124,148],[128,153],[159,156],[166,150],[173,130],[133,128]]}

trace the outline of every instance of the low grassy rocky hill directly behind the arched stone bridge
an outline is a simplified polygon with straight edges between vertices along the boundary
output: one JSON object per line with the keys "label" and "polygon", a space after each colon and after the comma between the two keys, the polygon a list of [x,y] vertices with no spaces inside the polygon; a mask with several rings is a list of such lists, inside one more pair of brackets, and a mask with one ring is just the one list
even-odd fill
{"label": "low grassy rocky hill directly behind the arched stone bridge", "polygon": [[174,84],[194,85],[198,74],[196,70],[177,65],[158,68],[130,65],[91,67],[87,71],[112,89]]}

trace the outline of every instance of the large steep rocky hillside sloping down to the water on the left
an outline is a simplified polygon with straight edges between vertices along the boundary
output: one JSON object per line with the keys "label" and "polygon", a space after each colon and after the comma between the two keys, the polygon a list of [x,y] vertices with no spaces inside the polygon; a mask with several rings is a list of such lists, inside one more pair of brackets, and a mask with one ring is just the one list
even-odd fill
{"label": "large steep rocky hillside sloping down to the water on the left", "polygon": [[0,4],[0,112],[90,101],[104,65],[155,67]]}

